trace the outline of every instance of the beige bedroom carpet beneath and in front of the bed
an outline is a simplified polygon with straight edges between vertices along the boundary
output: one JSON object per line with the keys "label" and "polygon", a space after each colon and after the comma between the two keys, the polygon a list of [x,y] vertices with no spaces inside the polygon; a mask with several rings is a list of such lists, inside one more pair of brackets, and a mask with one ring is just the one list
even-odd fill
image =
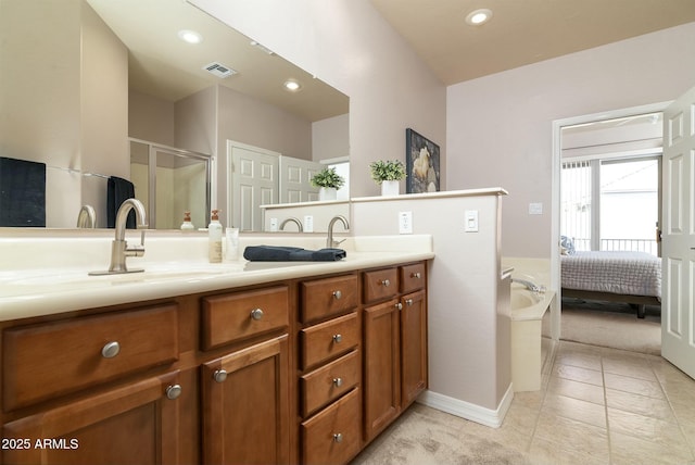
{"label": "beige bedroom carpet beneath and in front of the bed", "polygon": [[627,303],[563,299],[560,339],[660,355],[660,307],[647,305],[642,319]]}

